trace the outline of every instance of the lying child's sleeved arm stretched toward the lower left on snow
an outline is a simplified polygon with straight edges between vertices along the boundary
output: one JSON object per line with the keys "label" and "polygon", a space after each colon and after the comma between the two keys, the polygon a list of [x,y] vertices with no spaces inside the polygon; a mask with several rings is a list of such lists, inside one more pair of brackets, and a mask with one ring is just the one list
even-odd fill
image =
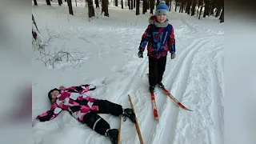
{"label": "lying child's sleeved arm stretched toward the lower left on snow", "polygon": [[53,120],[55,117],[58,116],[58,114],[62,111],[62,108],[60,108],[56,102],[54,102],[54,105],[50,107],[50,110],[47,110],[46,113],[38,115],[36,120],[40,122],[46,122]]}

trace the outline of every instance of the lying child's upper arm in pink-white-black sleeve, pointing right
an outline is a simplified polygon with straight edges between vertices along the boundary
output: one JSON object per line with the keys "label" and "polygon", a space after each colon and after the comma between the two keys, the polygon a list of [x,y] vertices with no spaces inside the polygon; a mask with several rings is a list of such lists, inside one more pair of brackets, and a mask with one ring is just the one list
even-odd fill
{"label": "lying child's upper arm in pink-white-black sleeve, pointing right", "polygon": [[80,86],[71,86],[69,88],[62,88],[62,91],[69,91],[69,92],[75,92],[75,93],[86,93],[89,90],[96,89],[96,86],[92,84],[86,84],[86,85],[80,85]]}

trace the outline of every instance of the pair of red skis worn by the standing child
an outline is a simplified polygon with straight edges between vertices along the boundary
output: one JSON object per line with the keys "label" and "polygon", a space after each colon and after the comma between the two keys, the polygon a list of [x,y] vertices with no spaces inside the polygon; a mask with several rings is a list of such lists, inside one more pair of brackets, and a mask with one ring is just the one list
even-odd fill
{"label": "pair of red skis worn by the standing child", "polygon": [[[146,74],[147,77],[149,78],[149,74]],[[159,86],[158,86],[159,87]],[[186,106],[183,106],[181,102],[178,102],[178,100],[176,98],[174,98],[174,96],[172,94],[170,94],[170,92],[168,90],[166,90],[166,88],[164,87],[159,87],[167,96],[169,96],[172,100],[174,100],[174,102],[180,106],[182,109],[184,110],[189,110],[189,111],[193,111],[190,110],[188,108],[186,108]],[[155,98],[154,98],[154,93],[150,92],[150,96],[151,96],[151,101],[152,101],[152,106],[153,106],[153,113],[154,113],[154,118],[156,118],[158,120],[158,109],[157,109],[157,105],[155,102]]]}

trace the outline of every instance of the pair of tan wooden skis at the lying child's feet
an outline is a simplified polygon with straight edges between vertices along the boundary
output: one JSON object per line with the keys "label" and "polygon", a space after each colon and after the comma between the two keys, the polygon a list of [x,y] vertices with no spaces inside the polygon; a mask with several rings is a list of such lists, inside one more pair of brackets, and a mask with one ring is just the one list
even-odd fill
{"label": "pair of tan wooden skis at the lying child's feet", "polygon": [[[135,114],[134,104],[131,101],[131,98],[130,98],[129,94],[128,94],[128,98],[129,98],[129,102],[130,102],[130,107],[134,111],[134,114]],[[140,142],[140,144],[144,144],[143,139],[142,139],[142,133],[141,133],[141,130],[139,129],[139,125],[138,125],[138,120],[137,120],[136,114],[135,114],[135,120],[136,120],[135,126],[136,126],[136,130],[137,130],[137,133],[138,133],[139,142]],[[119,123],[118,144],[121,144],[121,142],[120,142],[120,139],[121,139],[121,128],[122,128],[122,117],[120,117],[120,123]]]}

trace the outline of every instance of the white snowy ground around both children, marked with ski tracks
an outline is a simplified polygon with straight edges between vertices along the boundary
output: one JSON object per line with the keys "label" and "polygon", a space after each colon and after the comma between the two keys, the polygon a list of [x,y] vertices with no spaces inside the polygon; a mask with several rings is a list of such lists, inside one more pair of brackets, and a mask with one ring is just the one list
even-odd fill
{"label": "white snowy ground around both children, marked with ski tracks", "polygon": [[[223,50],[224,30],[218,19],[201,21],[187,14],[171,12],[177,57],[167,58],[163,83],[166,89],[193,112],[182,110],[162,91],[156,89],[159,121],[152,112],[148,92],[148,59],[137,56],[138,46],[150,14],[136,16],[134,10],[110,6],[110,17],[88,22],[84,3],[73,5],[74,16],[66,6],[46,6],[38,2],[32,11],[43,36],[46,28],[66,39],[52,42],[86,52],[81,66],[59,64],[49,69],[33,62],[33,118],[50,109],[47,93],[58,86],[93,83],[93,96],[130,107],[130,94],[137,113],[142,138],[146,144],[222,144],[224,132]],[[101,11],[101,10],[100,10]],[[70,67],[68,67],[70,66]],[[100,114],[111,128],[118,128],[119,118]],[[110,144],[66,111],[50,122],[33,128],[36,144]],[[135,126],[122,122],[121,142],[138,144]]]}

